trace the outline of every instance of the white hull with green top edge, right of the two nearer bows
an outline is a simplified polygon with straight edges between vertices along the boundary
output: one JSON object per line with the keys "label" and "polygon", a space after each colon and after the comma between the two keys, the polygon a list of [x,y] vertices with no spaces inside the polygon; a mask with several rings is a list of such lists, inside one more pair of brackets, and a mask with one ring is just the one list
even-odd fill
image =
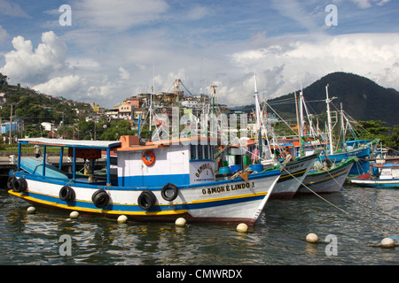
{"label": "white hull with green top edge, right of the two nearer bows", "polygon": [[[328,164],[321,166],[310,171],[303,180],[301,187],[298,189],[297,194],[325,194],[339,192],[340,188],[345,183],[350,169],[353,164],[357,162],[356,157],[349,157],[347,160],[342,160],[338,164]],[[317,167],[317,166],[315,166]],[[317,170],[318,169],[318,170]]]}

